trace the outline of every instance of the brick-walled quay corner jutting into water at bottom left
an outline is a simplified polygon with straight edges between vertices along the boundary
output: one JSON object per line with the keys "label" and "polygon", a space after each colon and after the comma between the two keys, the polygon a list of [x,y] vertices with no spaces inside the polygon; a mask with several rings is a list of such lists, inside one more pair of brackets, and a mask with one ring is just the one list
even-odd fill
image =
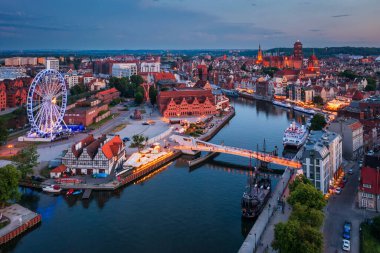
{"label": "brick-walled quay corner jutting into water at bottom left", "polygon": [[0,245],[9,242],[41,222],[41,215],[13,204],[0,209],[0,214],[9,219],[9,224],[0,229]]}

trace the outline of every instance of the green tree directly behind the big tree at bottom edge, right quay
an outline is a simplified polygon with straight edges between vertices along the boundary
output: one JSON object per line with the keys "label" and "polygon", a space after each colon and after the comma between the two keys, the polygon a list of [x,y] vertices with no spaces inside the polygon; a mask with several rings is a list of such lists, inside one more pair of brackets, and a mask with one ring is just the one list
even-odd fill
{"label": "green tree directly behind the big tree at bottom edge, right quay", "polygon": [[311,227],[318,229],[322,226],[324,215],[323,212],[314,208],[308,208],[299,203],[293,206],[291,220],[297,220],[302,224],[307,224]]}

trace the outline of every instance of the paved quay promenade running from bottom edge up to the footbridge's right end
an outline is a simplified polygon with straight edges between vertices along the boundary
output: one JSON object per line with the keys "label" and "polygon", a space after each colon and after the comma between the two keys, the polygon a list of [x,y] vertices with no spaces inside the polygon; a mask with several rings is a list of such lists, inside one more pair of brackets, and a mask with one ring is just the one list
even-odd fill
{"label": "paved quay promenade running from bottom edge up to the footbridge's right end", "polygon": [[[297,152],[292,160],[299,159],[302,156],[302,148]],[[281,179],[278,181],[272,196],[266,203],[251,231],[245,238],[243,244],[239,249],[239,253],[252,253],[252,252],[274,252],[271,251],[271,243],[274,239],[274,226],[279,222],[288,220],[291,210],[284,208],[282,213],[279,205],[280,200],[285,202],[289,196],[289,183],[294,180],[297,173],[294,169],[286,168],[282,174]],[[288,206],[285,204],[284,207]]]}

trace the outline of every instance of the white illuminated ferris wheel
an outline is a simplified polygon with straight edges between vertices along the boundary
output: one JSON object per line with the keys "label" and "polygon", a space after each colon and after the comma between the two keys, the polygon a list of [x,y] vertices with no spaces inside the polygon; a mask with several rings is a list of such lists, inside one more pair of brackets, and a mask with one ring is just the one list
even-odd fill
{"label": "white illuminated ferris wheel", "polygon": [[52,138],[62,131],[67,104],[67,89],[62,75],[55,69],[39,72],[29,87],[27,115],[30,134]]}

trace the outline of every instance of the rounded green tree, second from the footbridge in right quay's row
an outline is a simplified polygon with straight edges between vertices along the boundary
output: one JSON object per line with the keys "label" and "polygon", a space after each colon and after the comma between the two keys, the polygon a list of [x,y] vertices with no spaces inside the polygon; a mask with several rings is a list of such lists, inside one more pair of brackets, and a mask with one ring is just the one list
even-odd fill
{"label": "rounded green tree, second from the footbridge in right quay's row", "polygon": [[326,205],[322,192],[317,190],[313,185],[303,183],[299,184],[290,194],[288,202],[292,206],[299,203],[308,208],[315,208],[317,210],[322,210]]}

